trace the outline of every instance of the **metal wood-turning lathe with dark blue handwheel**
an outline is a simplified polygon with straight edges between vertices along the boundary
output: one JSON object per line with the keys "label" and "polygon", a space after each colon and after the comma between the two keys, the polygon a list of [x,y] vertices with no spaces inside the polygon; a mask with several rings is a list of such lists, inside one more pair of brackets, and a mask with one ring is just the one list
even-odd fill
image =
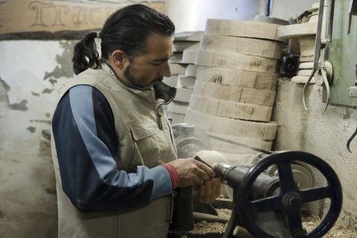
{"label": "metal wood-turning lathe with dark blue handwheel", "polygon": [[[342,207],[340,181],[319,157],[302,151],[267,151],[253,166],[232,166],[220,152],[210,150],[209,136],[195,126],[176,124],[173,132],[179,157],[194,157],[211,166],[233,190],[231,218],[222,238],[242,237],[242,230],[247,231],[246,237],[255,238],[322,237],[338,219]],[[311,171],[319,172],[325,183],[301,183],[302,178],[311,176]],[[308,232],[302,226],[302,208],[325,200],[329,201],[329,210],[320,224]],[[186,219],[187,224],[193,210],[187,206],[184,209],[179,219]]]}

